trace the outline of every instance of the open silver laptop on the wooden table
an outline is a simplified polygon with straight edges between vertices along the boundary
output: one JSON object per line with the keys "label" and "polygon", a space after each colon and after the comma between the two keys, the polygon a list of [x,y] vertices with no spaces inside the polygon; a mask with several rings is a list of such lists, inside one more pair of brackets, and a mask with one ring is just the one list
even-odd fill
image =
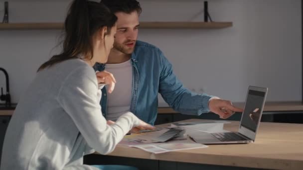
{"label": "open silver laptop on the wooden table", "polygon": [[201,144],[252,143],[261,121],[268,88],[249,86],[238,132],[203,133],[194,140]]}

